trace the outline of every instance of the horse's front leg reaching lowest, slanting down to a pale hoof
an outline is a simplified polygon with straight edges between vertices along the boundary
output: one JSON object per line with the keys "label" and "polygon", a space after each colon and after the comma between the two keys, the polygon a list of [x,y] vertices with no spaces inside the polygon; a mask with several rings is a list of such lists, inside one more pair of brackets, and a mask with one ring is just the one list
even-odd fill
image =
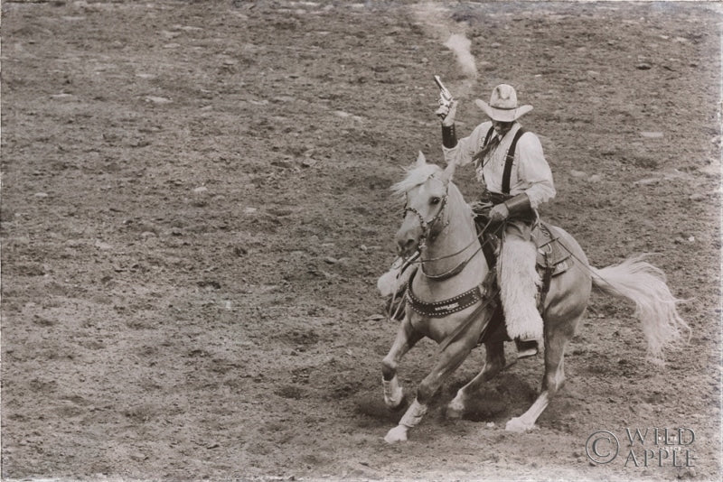
{"label": "horse's front leg reaching lowest, slanting down to a pale hoof", "polygon": [[427,404],[434,394],[455,369],[465,361],[469,352],[474,348],[479,337],[478,329],[470,329],[462,338],[450,343],[440,354],[437,365],[425,377],[417,388],[417,398],[409,405],[399,425],[391,429],[384,437],[388,443],[407,440],[407,432],[422,421],[427,413]]}

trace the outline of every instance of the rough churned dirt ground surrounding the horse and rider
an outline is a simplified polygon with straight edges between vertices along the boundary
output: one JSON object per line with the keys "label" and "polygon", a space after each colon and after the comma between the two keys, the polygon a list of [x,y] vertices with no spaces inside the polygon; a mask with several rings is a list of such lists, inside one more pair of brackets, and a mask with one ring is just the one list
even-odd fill
{"label": "rough churned dirt ground surrounding the horse and rider", "polygon": [[[720,9],[712,3],[13,2],[2,5],[5,480],[713,480],[720,440]],[[472,43],[470,79],[444,42]],[[390,185],[442,162],[438,74],[468,134],[512,83],[603,267],[651,252],[692,329],[664,368],[594,295],[539,429],[504,423],[541,357],[406,444],[381,400],[397,326]],[[457,172],[467,199],[471,169]],[[513,348],[511,348],[513,349]],[[435,355],[400,366],[413,396]],[[667,428],[695,439],[659,454]],[[587,458],[597,431],[621,440]],[[689,443],[690,442],[690,443]],[[629,459],[634,450],[635,461]],[[690,460],[682,454],[688,450]],[[681,465],[683,467],[681,467]],[[662,467],[661,467],[662,466]],[[690,467],[692,466],[692,467]]]}

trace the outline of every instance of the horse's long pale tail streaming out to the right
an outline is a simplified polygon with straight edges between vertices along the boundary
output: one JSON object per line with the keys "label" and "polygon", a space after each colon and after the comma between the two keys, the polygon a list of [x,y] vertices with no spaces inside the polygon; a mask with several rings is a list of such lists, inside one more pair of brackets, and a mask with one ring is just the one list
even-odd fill
{"label": "horse's long pale tail streaming out to the right", "polygon": [[662,362],[663,348],[681,337],[681,329],[688,331],[690,339],[690,327],[678,313],[677,304],[683,300],[672,295],[665,273],[643,261],[644,257],[638,255],[621,264],[590,269],[596,288],[635,303],[635,316],[643,323],[648,353],[653,361]]}

